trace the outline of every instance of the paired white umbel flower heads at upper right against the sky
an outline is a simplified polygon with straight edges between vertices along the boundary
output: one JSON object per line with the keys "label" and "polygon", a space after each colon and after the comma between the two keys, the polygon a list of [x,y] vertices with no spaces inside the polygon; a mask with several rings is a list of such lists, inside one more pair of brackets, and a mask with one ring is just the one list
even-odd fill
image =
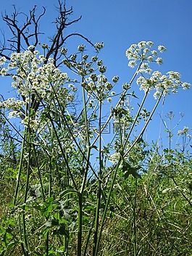
{"label": "paired white umbel flower heads at upper right against the sky", "polygon": [[157,49],[152,49],[152,46],[154,43],[151,41],[141,41],[138,44],[132,44],[126,51],[129,67],[135,67],[139,63],[137,74],[141,74],[141,76],[138,77],[137,84],[140,89],[145,92],[154,91],[154,98],[157,99],[162,94],[177,93],[180,87],[190,88],[191,84],[183,83],[178,72],[169,71],[166,75],[162,75],[159,71],[152,73],[149,63],[156,62],[158,65],[162,65],[163,59],[158,57],[158,54],[166,51],[162,45],[159,45]]}

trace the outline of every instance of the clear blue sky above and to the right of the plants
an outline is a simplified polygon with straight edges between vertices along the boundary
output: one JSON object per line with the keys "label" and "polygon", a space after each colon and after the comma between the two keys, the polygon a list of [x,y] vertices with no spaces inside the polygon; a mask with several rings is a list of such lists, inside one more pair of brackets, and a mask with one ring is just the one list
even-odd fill
{"label": "clear blue sky above and to the right of the plants", "polygon": [[[67,7],[73,7],[74,18],[82,15],[82,20],[71,27],[71,32],[82,33],[93,43],[104,41],[105,48],[101,53],[104,64],[107,65],[109,78],[120,76],[120,83],[129,82],[133,70],[128,67],[128,59],[125,51],[130,44],[139,41],[154,41],[154,44],[164,45],[167,51],[162,55],[164,65],[156,67],[166,73],[178,71],[183,82],[192,83],[192,1],[157,1],[157,0],[66,0]],[[49,24],[57,16],[57,1],[53,0],[7,0],[1,1],[1,12],[12,12],[12,4],[21,12],[28,12],[36,4],[38,12],[41,7],[47,7],[46,16],[43,17],[41,28],[46,30],[46,36],[51,36],[52,27]],[[0,21],[0,28],[4,28],[4,22]],[[2,88],[3,86],[3,88]],[[136,85],[133,89],[136,91]],[[1,93],[9,91],[10,85],[1,82]],[[192,88],[191,88],[192,89]],[[152,99],[151,99],[152,101]],[[153,104],[151,102],[150,104]],[[149,104],[149,105],[150,105]],[[149,106],[150,107],[150,106]],[[160,118],[158,112],[166,115],[167,112],[175,113],[173,126],[178,122],[179,112],[185,114],[178,129],[184,125],[192,128],[192,91],[180,91],[179,94],[168,96],[164,105],[159,107],[154,117],[154,125],[151,125],[154,139],[158,139]],[[163,128],[164,130],[164,128]],[[176,132],[175,130],[175,132]],[[167,139],[164,139],[166,143]]]}

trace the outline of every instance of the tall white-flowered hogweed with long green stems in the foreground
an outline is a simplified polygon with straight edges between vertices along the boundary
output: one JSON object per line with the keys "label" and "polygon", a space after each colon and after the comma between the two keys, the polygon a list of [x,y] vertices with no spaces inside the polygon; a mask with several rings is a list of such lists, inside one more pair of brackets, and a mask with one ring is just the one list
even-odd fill
{"label": "tall white-flowered hogweed with long green stems in the foreground", "polygon": [[[12,53],[9,61],[0,59],[1,76],[11,76],[17,91],[16,98],[1,102],[1,115],[9,125],[15,117],[23,127],[14,126],[22,144],[17,145],[14,198],[1,228],[1,253],[21,248],[22,255],[103,255],[101,238],[114,215],[115,188],[133,176],[133,251],[138,255],[135,207],[146,154],[142,136],[159,102],[190,84],[178,72],[152,70],[151,64],[162,65],[159,54],[166,49],[141,41],[126,51],[128,66],[136,69],[120,91],[119,77],[108,80],[105,75],[107,67],[99,59],[103,47],[95,44],[93,57],[83,44],[70,56],[63,48],[58,65],[54,58],[46,59],[49,47],[44,44],[43,54],[32,45]],[[75,79],[68,75],[71,71]],[[135,83],[143,99],[133,115],[128,99],[136,97]],[[146,112],[151,92],[154,107]],[[115,132],[105,137],[110,122]]]}

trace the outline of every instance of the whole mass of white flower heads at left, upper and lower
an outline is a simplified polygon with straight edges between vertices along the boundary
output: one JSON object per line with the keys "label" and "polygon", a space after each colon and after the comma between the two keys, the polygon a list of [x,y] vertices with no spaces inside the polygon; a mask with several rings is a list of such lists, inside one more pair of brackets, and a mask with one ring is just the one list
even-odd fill
{"label": "whole mass of white flower heads at left, upper and lower", "polygon": [[[5,61],[6,59],[2,57],[1,65],[5,64]],[[65,86],[70,81],[67,73],[63,73],[55,67],[54,59],[45,59],[43,55],[34,50],[34,46],[29,46],[28,50],[23,53],[13,53],[9,63],[0,70],[0,73],[0,75],[12,76],[12,87],[17,89],[17,93],[23,99],[9,98],[0,102],[0,108],[11,110],[9,118],[21,117],[22,124],[30,125],[30,128],[35,131],[38,128],[43,128],[45,123],[43,123],[44,117],[41,115],[43,109],[41,113],[35,112],[33,109],[30,111],[29,107],[33,108],[34,102],[35,104],[43,102],[43,107],[48,106],[51,110],[57,108],[58,104],[66,107],[75,99],[75,86],[73,84],[70,84],[68,88]],[[55,100],[56,95],[57,100]],[[26,107],[27,110],[25,110]]]}

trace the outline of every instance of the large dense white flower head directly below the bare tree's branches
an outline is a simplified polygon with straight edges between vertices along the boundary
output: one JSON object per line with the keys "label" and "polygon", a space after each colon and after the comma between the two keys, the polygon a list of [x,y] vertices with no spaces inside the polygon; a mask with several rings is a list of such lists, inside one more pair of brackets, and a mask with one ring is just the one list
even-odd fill
{"label": "large dense white flower head directly below the bare tree's branches", "polygon": [[68,79],[66,73],[55,67],[54,59],[46,59],[38,51],[13,53],[7,73],[12,71],[12,87],[27,97],[30,94],[39,94],[41,98],[47,96],[51,83],[64,84]]}

